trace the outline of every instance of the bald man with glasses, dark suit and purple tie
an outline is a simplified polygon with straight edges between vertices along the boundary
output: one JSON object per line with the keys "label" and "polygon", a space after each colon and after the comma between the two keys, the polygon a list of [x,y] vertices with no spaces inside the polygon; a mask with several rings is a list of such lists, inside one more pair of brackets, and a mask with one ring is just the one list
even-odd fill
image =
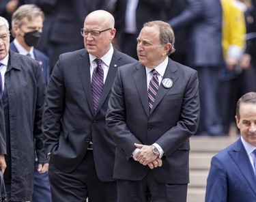
{"label": "bald man with glasses, dark suit and purple tie", "polygon": [[91,12],[81,29],[85,49],[60,55],[51,74],[43,131],[53,201],[116,201],[105,114],[117,68],[136,60],[113,48],[114,26],[109,12]]}

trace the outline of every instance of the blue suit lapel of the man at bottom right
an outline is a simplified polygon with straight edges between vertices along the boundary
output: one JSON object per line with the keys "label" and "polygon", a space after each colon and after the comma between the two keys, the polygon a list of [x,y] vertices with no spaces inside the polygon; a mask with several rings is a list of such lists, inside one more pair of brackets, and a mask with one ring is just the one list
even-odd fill
{"label": "blue suit lapel of the man at bottom right", "polygon": [[248,182],[248,185],[251,187],[252,192],[256,195],[256,177],[253,171],[253,167],[248,158],[246,150],[244,149],[244,145],[242,145],[241,139],[238,139],[236,142],[236,146],[233,150],[229,151],[229,155],[236,162],[238,169],[240,169],[242,175]]}

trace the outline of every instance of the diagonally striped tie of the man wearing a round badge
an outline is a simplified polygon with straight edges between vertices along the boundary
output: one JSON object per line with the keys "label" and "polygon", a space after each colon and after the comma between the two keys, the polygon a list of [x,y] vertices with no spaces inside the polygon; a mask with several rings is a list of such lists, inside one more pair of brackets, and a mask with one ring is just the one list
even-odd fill
{"label": "diagonally striped tie of the man wearing a round badge", "polygon": [[159,83],[158,83],[158,77],[157,77],[157,71],[155,69],[151,70],[153,77],[150,80],[150,85],[148,87],[147,95],[148,95],[148,104],[150,106],[150,112],[153,108],[153,104],[156,99],[156,93],[159,88]]}

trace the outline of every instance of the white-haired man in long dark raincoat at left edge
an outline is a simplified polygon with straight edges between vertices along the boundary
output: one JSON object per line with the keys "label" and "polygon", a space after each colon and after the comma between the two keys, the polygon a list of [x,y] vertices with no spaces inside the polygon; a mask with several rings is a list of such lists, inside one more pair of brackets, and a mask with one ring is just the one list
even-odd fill
{"label": "white-haired man in long dark raincoat at left edge", "polygon": [[48,163],[42,142],[45,83],[40,64],[10,51],[8,21],[0,17],[0,72],[3,83],[7,156],[4,179],[10,201],[31,201],[35,170],[45,173]]}

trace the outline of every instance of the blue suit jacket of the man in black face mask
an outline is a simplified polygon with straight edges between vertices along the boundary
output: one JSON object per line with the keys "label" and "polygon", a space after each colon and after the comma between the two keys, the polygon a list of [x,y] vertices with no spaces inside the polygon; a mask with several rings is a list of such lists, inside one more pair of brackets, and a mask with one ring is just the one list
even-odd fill
{"label": "blue suit jacket of the man in black face mask", "polygon": [[[11,42],[10,50],[14,51],[15,53],[18,53],[18,50],[14,45],[14,42]],[[48,57],[44,55],[44,53],[42,53],[36,48],[33,48],[33,54],[35,55],[35,60],[38,61],[40,66],[42,67],[44,81],[47,84],[50,78],[50,61]]]}

